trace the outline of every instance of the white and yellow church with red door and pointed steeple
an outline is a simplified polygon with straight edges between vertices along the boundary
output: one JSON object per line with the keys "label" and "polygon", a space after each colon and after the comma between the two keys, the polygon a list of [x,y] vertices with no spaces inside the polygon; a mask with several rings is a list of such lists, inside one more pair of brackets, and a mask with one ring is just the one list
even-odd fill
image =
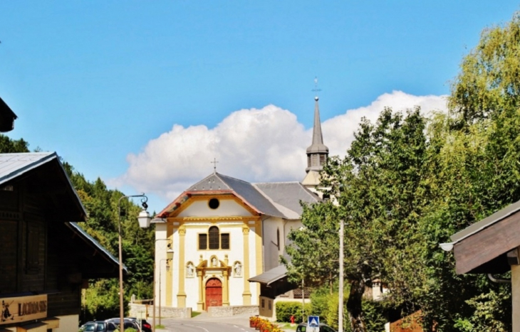
{"label": "white and yellow church with red door and pointed steeple", "polygon": [[300,202],[321,200],[316,186],[328,148],[318,97],[306,154],[302,182],[249,183],[214,171],[155,216],[158,306],[259,306],[260,284],[249,279],[279,267],[288,232],[302,226]]}

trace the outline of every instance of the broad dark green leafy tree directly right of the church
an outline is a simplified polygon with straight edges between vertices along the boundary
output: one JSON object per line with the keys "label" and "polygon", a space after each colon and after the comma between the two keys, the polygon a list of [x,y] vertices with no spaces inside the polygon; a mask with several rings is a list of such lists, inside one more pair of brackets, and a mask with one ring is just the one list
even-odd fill
{"label": "broad dark green leafy tree directly right of the church", "polygon": [[[337,261],[338,220],[345,220],[344,269],[350,281],[347,311],[353,332],[367,331],[362,298],[373,279],[390,284],[396,304],[410,298],[401,275],[414,273],[409,258],[415,251],[410,248],[417,242],[417,220],[427,201],[417,199],[427,193],[422,181],[424,132],[418,108],[406,116],[384,109],[375,124],[363,119],[345,159],[331,158],[322,173],[322,185],[338,204],[311,205],[303,212],[303,230],[291,232],[289,275],[304,266],[311,282],[330,280],[335,265],[323,269],[327,262],[316,259]],[[314,238],[325,245],[316,247]],[[308,261],[316,262],[314,268]]]}

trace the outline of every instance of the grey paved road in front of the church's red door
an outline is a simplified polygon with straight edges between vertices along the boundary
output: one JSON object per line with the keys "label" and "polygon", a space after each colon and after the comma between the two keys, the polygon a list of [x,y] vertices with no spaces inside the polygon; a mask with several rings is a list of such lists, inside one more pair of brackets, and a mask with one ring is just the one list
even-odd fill
{"label": "grey paved road in front of the church's red door", "polygon": [[197,320],[180,320],[180,319],[162,319],[162,325],[165,330],[172,332],[251,332],[254,328],[234,323],[224,323],[220,321],[197,321]]}

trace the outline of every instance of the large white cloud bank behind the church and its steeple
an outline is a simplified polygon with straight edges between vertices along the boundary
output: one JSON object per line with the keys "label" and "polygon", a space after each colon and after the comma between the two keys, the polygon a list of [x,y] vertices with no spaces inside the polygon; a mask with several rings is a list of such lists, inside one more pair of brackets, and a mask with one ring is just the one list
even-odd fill
{"label": "large white cloud bank behind the church and its steeple", "polygon": [[[446,109],[444,96],[386,93],[367,107],[322,119],[323,141],[331,155],[343,156],[362,117],[375,121],[384,107],[400,110],[416,105],[423,112]],[[311,136],[312,128],[305,129],[295,114],[274,105],[232,112],[212,129],[174,124],[170,132],[149,141],[139,154],[129,154],[128,171],[111,182],[171,201],[213,171],[213,158],[219,162],[219,173],[234,178],[301,181]]]}

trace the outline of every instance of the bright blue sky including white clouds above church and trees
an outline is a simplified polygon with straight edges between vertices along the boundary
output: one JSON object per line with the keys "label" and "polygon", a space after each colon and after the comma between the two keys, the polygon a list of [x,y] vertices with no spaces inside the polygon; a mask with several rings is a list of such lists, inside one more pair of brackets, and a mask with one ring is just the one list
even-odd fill
{"label": "bright blue sky including white clouds above church and trees", "polygon": [[155,210],[211,173],[214,157],[247,181],[301,180],[315,76],[325,143],[341,154],[342,132],[385,105],[442,109],[435,97],[449,94],[482,29],[518,9],[505,0],[1,1],[0,97],[19,115],[8,136],[57,151],[89,180],[150,193]]}

